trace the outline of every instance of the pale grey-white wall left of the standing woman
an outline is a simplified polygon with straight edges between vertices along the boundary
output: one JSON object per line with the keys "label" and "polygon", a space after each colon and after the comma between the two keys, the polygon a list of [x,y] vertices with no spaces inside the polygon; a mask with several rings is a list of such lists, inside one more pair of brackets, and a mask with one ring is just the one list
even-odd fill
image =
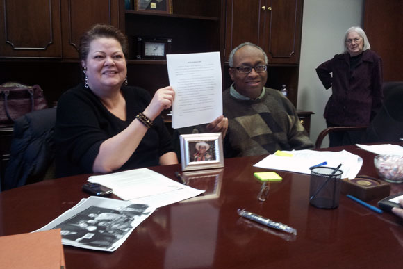
{"label": "pale grey-white wall left of the standing woman", "polygon": [[[364,0],[304,0],[297,108],[313,111],[311,140],[326,128],[323,112],[331,95],[315,69],[343,51],[343,37],[351,26],[362,26]],[[329,145],[324,140],[322,147]]]}

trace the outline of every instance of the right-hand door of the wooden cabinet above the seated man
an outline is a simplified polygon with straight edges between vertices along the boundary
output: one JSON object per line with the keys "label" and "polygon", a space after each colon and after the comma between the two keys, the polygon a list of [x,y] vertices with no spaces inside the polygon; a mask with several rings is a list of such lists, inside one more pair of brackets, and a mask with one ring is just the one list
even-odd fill
{"label": "right-hand door of the wooden cabinet above the seated man", "polygon": [[267,0],[263,49],[269,63],[299,63],[302,5],[302,0]]}

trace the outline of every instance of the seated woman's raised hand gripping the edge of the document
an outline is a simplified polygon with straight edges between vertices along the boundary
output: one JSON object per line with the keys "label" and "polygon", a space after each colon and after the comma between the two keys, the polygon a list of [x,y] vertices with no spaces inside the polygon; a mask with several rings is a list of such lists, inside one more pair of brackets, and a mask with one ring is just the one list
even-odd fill
{"label": "seated woman's raised hand gripping the edge of the document", "polygon": [[154,120],[164,109],[172,106],[174,99],[175,92],[171,86],[158,89],[143,114],[150,120]]}

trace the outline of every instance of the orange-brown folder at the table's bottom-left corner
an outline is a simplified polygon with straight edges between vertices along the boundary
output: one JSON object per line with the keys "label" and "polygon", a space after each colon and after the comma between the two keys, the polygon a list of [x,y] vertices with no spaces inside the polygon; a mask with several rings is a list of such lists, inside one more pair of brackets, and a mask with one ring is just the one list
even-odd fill
{"label": "orange-brown folder at the table's bottom-left corner", "polygon": [[60,229],[0,237],[1,268],[65,268]]}

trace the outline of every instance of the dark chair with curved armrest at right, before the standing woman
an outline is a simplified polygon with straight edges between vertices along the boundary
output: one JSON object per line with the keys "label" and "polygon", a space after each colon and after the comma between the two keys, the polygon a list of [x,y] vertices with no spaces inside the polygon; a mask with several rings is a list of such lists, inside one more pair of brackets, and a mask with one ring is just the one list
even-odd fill
{"label": "dark chair with curved armrest at right, before the standing woman", "polygon": [[365,130],[361,139],[365,142],[401,142],[403,138],[403,81],[388,81],[382,84],[384,105],[368,127],[329,127],[320,132],[315,148],[322,145],[323,139],[331,132]]}

